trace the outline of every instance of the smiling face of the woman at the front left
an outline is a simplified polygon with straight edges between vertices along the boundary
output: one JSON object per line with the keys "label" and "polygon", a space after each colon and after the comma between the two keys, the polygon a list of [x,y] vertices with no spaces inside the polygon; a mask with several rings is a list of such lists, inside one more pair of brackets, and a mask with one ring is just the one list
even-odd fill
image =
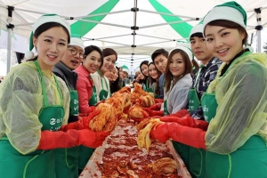
{"label": "smiling face of the woman at the front left", "polygon": [[40,68],[52,71],[67,50],[68,34],[61,27],[50,28],[37,37],[33,36],[33,44],[38,52]]}

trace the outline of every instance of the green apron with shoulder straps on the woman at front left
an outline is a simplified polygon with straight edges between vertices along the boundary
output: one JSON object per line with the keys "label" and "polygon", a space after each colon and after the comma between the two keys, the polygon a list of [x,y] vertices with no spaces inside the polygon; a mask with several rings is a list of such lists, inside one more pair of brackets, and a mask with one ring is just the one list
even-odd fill
{"label": "green apron with shoulder straps on the woman at front left", "polygon": [[[42,93],[44,95],[44,108],[39,112],[40,123],[43,124],[42,131],[57,131],[61,128],[64,117],[62,107],[62,96],[59,84],[54,77],[57,90],[61,97],[61,105],[48,105],[47,96],[44,90],[44,77],[37,61],[34,61],[38,70]],[[0,141],[0,173],[3,178],[23,177],[23,178],[55,178],[55,155],[54,150],[36,150],[27,155],[22,155],[12,147],[8,138],[4,136]]]}

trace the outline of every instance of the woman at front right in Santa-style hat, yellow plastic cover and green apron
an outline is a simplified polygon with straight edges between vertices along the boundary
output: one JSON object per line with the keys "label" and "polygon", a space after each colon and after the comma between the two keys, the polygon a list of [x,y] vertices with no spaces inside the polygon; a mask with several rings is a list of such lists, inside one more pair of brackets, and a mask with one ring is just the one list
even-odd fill
{"label": "woman at front right in Santa-style hat, yellow plastic cover and green apron", "polygon": [[203,24],[208,50],[223,61],[201,99],[208,128],[166,123],[150,134],[206,149],[206,178],[267,177],[267,56],[243,48],[247,14],[236,2],[215,6]]}

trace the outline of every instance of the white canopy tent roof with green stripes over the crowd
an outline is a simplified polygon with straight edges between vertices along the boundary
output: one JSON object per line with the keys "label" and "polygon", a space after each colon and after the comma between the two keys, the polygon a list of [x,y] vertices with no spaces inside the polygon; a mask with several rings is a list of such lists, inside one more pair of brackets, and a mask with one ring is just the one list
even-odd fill
{"label": "white canopy tent roof with green stripes over the crowd", "polygon": [[[141,61],[150,60],[154,50],[161,47],[170,50],[177,41],[186,41],[190,28],[214,5],[223,2],[227,1],[0,0],[0,28],[8,31],[8,39],[12,33],[28,37],[39,16],[56,13],[69,21],[72,33],[83,36],[85,45],[115,49],[118,62],[129,67],[133,62],[133,70]],[[260,52],[261,29],[267,27],[267,1],[237,2],[247,11],[248,32],[257,31],[257,51]],[[10,41],[7,49],[11,49]],[[7,68],[9,71],[9,62]]]}

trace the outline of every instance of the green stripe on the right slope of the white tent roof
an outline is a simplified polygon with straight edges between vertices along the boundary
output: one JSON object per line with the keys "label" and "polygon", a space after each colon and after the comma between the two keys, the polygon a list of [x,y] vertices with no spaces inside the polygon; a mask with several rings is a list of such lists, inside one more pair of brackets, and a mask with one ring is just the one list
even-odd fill
{"label": "green stripe on the right slope of the white tent roof", "polygon": [[[165,13],[174,14],[174,13],[170,12],[169,10],[167,10],[165,6],[163,6],[162,4],[159,4],[158,1],[156,1],[156,0],[150,0],[150,4],[152,4],[152,6],[156,9],[157,12],[165,12]],[[167,16],[167,15],[161,15],[161,17],[164,20],[166,20],[166,22],[182,20],[179,17],[172,17],[172,16]],[[174,30],[178,34],[180,34],[180,36],[182,36],[183,38],[187,38],[188,36],[190,36],[190,30],[191,30],[192,26],[190,24],[188,24],[187,22],[170,24],[170,26],[172,28],[174,28]],[[188,39],[187,39],[187,41],[188,41]]]}

